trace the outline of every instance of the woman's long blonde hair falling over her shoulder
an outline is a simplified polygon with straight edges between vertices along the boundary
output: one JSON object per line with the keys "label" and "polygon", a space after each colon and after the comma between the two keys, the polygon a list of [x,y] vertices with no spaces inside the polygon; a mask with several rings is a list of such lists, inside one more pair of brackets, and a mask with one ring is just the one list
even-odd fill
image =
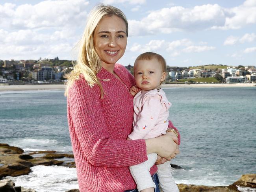
{"label": "woman's long blonde hair falling over her shoulder", "polygon": [[98,6],[94,7],[87,18],[87,24],[83,31],[82,39],[78,43],[80,45],[78,60],[73,61],[74,68],[70,74],[65,75],[65,78],[67,78],[65,83],[65,96],[69,96],[70,87],[73,85],[75,80],[79,79],[80,74],[83,74],[90,87],[93,87],[95,84],[100,87],[101,98],[103,98],[104,90],[100,83],[100,79],[96,76],[102,66],[100,57],[96,53],[94,47],[93,35],[100,20],[103,17],[113,15],[124,20],[126,24],[126,36],[128,37],[128,21],[120,9],[113,6],[105,6],[103,4],[98,4]]}

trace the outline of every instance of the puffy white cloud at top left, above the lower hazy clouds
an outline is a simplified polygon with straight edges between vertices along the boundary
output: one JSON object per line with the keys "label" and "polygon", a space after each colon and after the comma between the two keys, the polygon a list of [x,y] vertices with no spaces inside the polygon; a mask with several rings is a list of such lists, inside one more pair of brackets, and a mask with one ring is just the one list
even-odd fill
{"label": "puffy white cloud at top left, above the lower hazy clouds", "polygon": [[63,28],[81,25],[86,18],[86,0],[46,0],[38,4],[0,5],[0,28],[35,29]]}

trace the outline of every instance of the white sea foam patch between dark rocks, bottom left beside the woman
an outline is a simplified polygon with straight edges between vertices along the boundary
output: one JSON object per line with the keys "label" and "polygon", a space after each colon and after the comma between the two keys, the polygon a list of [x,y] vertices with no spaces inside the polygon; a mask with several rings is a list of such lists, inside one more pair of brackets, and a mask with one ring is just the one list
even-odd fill
{"label": "white sea foam patch between dark rocks, bottom left beside the woman", "polygon": [[14,181],[16,186],[33,188],[37,192],[65,192],[78,189],[76,168],[63,166],[34,166],[28,175],[7,177]]}

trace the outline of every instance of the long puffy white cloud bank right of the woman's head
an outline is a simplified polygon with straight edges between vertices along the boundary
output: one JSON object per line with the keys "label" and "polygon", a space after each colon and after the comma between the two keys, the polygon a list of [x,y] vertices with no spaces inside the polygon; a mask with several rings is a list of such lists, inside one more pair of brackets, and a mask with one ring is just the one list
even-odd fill
{"label": "long puffy white cloud bank right of the woman's head", "polygon": [[192,8],[173,6],[151,11],[141,20],[129,20],[132,36],[174,31],[239,29],[255,23],[255,0],[246,0],[241,6],[232,8],[224,8],[218,4]]}

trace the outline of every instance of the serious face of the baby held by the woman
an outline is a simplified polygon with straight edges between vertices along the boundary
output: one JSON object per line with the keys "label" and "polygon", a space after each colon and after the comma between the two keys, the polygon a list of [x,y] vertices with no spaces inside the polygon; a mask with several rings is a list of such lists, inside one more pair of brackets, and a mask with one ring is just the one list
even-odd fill
{"label": "serious face of the baby held by the woman", "polygon": [[158,89],[165,75],[157,59],[137,60],[134,64],[136,85],[141,90]]}

